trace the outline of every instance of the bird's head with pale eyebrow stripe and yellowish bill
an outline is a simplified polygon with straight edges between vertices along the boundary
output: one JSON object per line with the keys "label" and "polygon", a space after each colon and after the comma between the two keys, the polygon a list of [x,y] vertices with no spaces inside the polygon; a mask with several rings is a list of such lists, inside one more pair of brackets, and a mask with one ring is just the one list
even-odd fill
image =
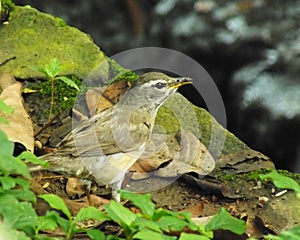
{"label": "bird's head with pale eyebrow stripe and yellowish bill", "polygon": [[188,77],[170,77],[160,72],[149,72],[140,76],[128,93],[137,96],[145,104],[161,105],[180,86],[190,83],[192,79]]}

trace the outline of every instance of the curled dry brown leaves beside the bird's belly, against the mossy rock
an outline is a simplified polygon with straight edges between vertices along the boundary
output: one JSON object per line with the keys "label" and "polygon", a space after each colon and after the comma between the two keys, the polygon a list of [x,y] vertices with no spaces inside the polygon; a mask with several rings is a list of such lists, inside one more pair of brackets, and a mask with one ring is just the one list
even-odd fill
{"label": "curled dry brown leaves beside the bird's belly, against the mossy rock", "polygon": [[[206,175],[214,170],[215,161],[206,147],[189,131],[182,131],[180,145],[175,136],[154,133],[142,157],[130,168],[134,180],[149,177],[176,177],[195,172]],[[168,164],[167,164],[168,163]],[[165,165],[165,166],[164,166]]]}

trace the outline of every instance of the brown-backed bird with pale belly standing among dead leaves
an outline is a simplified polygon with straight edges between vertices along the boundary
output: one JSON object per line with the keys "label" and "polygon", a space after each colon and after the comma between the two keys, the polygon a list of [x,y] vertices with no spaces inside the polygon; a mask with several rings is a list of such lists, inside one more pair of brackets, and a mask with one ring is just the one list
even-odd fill
{"label": "brown-backed bird with pale belly standing among dead leaves", "polygon": [[191,83],[188,77],[145,73],[115,105],[75,127],[56,150],[41,158],[53,171],[69,174],[69,164],[70,169],[76,169],[73,175],[83,179],[92,176],[97,183],[111,187],[113,199],[120,201],[125,174],[143,154],[159,107],[179,87]]}

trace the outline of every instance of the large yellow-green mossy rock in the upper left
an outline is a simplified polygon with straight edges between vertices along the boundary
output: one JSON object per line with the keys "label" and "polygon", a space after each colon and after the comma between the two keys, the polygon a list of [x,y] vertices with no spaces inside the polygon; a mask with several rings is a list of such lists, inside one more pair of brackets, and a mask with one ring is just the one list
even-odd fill
{"label": "large yellow-green mossy rock in the upper left", "polygon": [[89,35],[31,7],[14,8],[0,26],[0,42],[0,73],[18,78],[42,77],[29,66],[44,66],[53,58],[63,65],[63,74],[81,79],[105,66],[105,54]]}

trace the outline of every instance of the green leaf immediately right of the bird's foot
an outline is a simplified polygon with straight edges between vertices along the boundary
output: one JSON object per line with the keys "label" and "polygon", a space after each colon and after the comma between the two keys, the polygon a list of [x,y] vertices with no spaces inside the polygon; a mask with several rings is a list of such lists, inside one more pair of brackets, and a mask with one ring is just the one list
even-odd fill
{"label": "green leaf immediately right of the bird's foot", "polygon": [[150,194],[136,194],[129,191],[121,190],[121,197],[130,200],[136,207],[142,210],[147,217],[152,217],[155,204],[151,201]]}

